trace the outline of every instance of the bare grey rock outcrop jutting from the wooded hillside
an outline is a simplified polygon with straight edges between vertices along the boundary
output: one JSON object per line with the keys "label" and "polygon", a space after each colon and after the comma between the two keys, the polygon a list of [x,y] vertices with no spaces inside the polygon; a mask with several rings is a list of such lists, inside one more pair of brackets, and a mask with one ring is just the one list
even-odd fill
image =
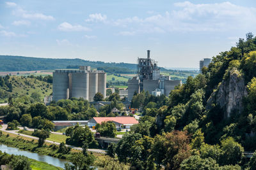
{"label": "bare grey rock outcrop jutting from the wooded hillside", "polygon": [[207,110],[218,105],[223,109],[225,117],[230,117],[232,112],[241,113],[243,111],[243,97],[247,96],[244,78],[241,73],[233,68],[229,72],[228,78],[223,80],[215,92],[212,92],[207,101]]}

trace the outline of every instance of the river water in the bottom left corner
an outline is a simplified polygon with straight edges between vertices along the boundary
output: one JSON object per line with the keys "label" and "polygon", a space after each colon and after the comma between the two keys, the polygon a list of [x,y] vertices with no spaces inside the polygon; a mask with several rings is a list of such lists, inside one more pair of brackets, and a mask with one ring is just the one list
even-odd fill
{"label": "river water in the bottom left corner", "polygon": [[6,152],[8,154],[13,154],[13,155],[24,155],[25,157],[28,157],[30,159],[35,159],[41,162],[46,162],[47,164],[51,164],[53,166],[58,166],[61,168],[65,167],[65,163],[67,163],[67,160],[64,159],[58,159],[55,157],[50,157],[47,155],[41,155],[40,153],[33,153],[33,152],[28,152],[25,150],[20,150],[19,148],[13,148],[7,145],[3,145],[0,143],[0,150],[2,152]]}

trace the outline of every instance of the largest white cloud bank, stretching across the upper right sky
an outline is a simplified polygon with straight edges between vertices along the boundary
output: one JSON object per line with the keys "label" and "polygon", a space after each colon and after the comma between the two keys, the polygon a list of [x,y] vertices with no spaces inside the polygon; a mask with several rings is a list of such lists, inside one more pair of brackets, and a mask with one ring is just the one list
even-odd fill
{"label": "largest white cloud bank, stretching across the upper right sky", "polygon": [[[134,35],[149,32],[191,32],[191,31],[250,31],[256,27],[256,8],[239,6],[229,2],[194,4],[189,1],[174,3],[175,10],[150,17],[137,16],[120,18],[111,24],[131,28],[120,35]],[[156,12],[154,12],[156,13]]]}

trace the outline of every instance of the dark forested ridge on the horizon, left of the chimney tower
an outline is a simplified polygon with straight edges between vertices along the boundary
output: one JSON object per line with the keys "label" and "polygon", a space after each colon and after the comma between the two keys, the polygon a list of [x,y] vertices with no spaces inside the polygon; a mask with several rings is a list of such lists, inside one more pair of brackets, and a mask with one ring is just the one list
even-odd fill
{"label": "dark forested ridge on the horizon, left of the chimney tower", "polygon": [[[34,71],[49,69],[65,69],[67,67],[91,66],[93,68],[109,69],[115,67],[124,73],[134,73],[137,69],[136,64],[124,62],[100,62],[82,59],[47,59],[36,57],[22,57],[13,55],[0,55],[0,71]],[[118,72],[118,71],[117,71]],[[118,72],[120,73],[120,72]],[[122,73],[122,72],[121,72]]]}

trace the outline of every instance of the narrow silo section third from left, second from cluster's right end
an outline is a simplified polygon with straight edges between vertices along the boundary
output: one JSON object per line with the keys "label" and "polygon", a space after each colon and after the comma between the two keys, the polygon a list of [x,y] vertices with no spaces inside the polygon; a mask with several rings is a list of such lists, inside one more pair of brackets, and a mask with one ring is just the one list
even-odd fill
{"label": "narrow silo section third from left, second from cluster's right end", "polygon": [[98,92],[98,73],[89,73],[89,101],[93,101],[93,97]]}

